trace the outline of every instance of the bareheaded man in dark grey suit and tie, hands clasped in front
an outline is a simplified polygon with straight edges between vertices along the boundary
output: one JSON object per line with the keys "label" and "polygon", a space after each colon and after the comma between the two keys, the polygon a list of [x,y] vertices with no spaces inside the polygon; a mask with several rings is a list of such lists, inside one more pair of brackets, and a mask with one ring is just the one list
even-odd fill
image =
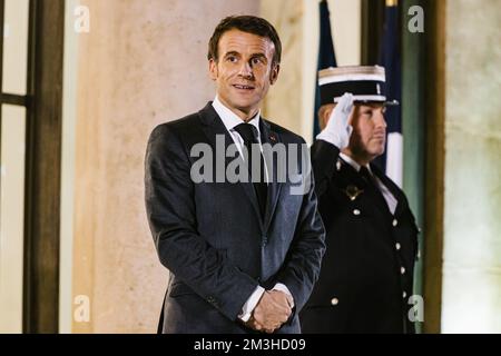
{"label": "bareheaded man in dark grey suit and tie, hands clasped in front", "polygon": [[[159,330],[299,333],[298,312],[320,274],[324,227],[314,189],[293,189],[308,175],[301,155],[264,154],[304,146],[261,117],[279,71],[278,34],[261,18],[226,18],[210,39],[208,60],[214,102],[155,128],[146,154],[148,220],[170,270]],[[289,160],[297,174],[282,181],[275,171]],[[235,166],[238,177],[250,179],[229,177]]]}

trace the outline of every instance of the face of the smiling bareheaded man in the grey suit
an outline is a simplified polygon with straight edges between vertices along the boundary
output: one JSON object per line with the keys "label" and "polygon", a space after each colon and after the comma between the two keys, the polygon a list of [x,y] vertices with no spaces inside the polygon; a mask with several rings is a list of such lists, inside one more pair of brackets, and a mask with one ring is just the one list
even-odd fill
{"label": "face of the smiling bareheaded man in the grey suit", "polygon": [[257,34],[236,29],[225,32],[218,43],[218,59],[209,60],[217,96],[240,118],[253,117],[278,76],[272,65],[275,46]]}

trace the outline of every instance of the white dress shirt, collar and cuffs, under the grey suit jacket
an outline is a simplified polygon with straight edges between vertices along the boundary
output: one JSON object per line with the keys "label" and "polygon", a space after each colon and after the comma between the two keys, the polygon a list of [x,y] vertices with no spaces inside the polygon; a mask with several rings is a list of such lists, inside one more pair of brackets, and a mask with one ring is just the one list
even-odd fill
{"label": "white dress shirt, collar and cuffs, under the grey suit jacket", "polygon": [[[243,123],[244,120],[242,120],[230,109],[225,107],[223,105],[223,102],[220,102],[220,100],[217,96],[213,101],[213,107],[214,107],[214,110],[216,110],[219,118],[222,119],[224,126],[226,127],[226,130],[228,130],[229,135],[232,136],[233,141],[235,142],[239,154],[242,155],[242,148],[244,147],[244,139],[235,130],[235,127],[237,125]],[[261,111],[258,111],[256,113],[256,116],[254,118],[252,118],[247,123],[253,125],[257,129],[257,134],[258,134],[257,137],[258,137],[259,147],[261,147],[259,120],[261,120]],[[263,151],[263,147],[261,147],[261,150]],[[266,161],[265,161],[265,165],[266,165]],[[265,168],[266,168],[266,166],[265,166]],[[265,169],[265,172],[266,172],[266,181],[268,181],[267,169]],[[273,287],[273,289],[284,291],[292,297],[291,291],[288,290],[287,286],[285,286],[284,284],[277,283]],[[242,313],[238,315],[238,318],[240,318],[243,322],[248,322],[254,308],[256,307],[257,303],[259,301],[259,299],[264,293],[265,293],[265,289],[262,286],[257,286],[256,289],[254,290],[254,293],[250,295],[250,297],[247,299],[247,301],[242,307]]]}

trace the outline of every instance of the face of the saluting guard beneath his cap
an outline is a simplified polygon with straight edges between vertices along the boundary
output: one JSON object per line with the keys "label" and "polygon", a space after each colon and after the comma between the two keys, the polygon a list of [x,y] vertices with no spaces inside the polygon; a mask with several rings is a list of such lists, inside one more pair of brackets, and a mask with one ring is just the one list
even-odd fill
{"label": "face of the saluting guard beneath his cap", "polygon": [[385,107],[381,103],[356,105],[351,119],[353,134],[348,150],[371,161],[384,152],[386,140]]}

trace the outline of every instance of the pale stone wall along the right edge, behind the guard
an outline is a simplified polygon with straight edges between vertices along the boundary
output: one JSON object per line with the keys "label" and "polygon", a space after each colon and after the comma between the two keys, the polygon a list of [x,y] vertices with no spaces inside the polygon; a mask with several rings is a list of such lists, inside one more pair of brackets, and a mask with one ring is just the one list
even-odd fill
{"label": "pale stone wall along the right edge, behind the guard", "polygon": [[446,2],[442,332],[501,332],[499,0]]}

